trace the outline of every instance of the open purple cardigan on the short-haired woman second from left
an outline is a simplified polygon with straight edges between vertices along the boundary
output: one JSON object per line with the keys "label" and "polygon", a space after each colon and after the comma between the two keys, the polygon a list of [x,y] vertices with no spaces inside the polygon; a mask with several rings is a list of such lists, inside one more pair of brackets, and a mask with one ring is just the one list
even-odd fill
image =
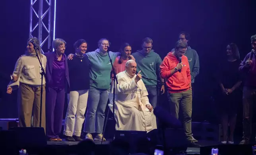
{"label": "open purple cardigan on the short-haired woman second from left", "polygon": [[[52,63],[53,63],[53,59],[55,57],[56,53],[55,52],[47,52],[45,53],[45,56],[47,58],[47,64],[46,64],[46,68],[45,68],[45,77],[46,77],[46,86],[47,83],[50,82],[50,80],[52,79]],[[65,76],[66,76],[66,92],[69,89],[70,83],[69,83],[69,74],[68,74],[68,60],[67,60],[67,56],[65,54],[64,55],[64,59],[65,59]]]}

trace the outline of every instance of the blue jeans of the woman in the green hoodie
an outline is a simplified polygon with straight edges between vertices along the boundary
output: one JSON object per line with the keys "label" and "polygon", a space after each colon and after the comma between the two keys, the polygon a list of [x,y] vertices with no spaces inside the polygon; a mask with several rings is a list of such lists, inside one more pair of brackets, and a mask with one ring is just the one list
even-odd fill
{"label": "blue jeans of the woman in the green hoodie", "polygon": [[84,132],[99,134],[103,132],[105,109],[108,99],[109,96],[106,89],[93,87],[89,89]]}

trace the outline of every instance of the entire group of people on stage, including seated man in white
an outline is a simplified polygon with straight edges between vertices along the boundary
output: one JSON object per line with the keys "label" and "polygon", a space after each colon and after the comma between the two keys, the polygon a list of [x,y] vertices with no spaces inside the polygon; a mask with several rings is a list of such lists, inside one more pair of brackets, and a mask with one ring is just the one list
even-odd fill
{"label": "entire group of people on stage, including seated man in white", "polygon": [[[39,127],[40,108],[41,127],[45,129],[50,141],[61,141],[62,116],[64,111],[65,94],[68,94],[68,108],[66,111],[63,134],[68,141],[81,141],[82,125],[85,138],[89,140],[105,141],[103,125],[105,121],[105,109],[111,93],[111,83],[115,72],[117,79],[123,80],[116,86],[122,115],[115,115],[118,124],[116,129],[138,129],[149,132],[155,129],[155,116],[149,112],[157,106],[158,90],[161,94],[167,92],[171,115],[178,119],[179,109],[182,110],[183,126],[186,137],[191,144],[198,142],[192,134],[192,96],[195,77],[199,74],[199,57],[197,52],[188,43],[190,35],[180,32],[175,48],[167,53],[162,60],[153,50],[153,40],[144,38],[142,50],[132,53],[132,46],[124,43],[119,52],[109,50],[109,40],[103,38],[98,42],[95,51],[87,52],[87,42],[83,39],[74,43],[74,54],[65,55],[66,42],[63,39],[55,39],[52,42],[54,52],[42,54],[37,38],[27,41],[27,51],[19,57],[14,72],[10,78],[7,93],[11,94],[18,89],[18,115],[20,127]],[[251,37],[252,48],[256,49],[256,35]],[[36,48],[34,48],[36,47]],[[255,102],[255,53],[248,53],[241,62],[237,45],[227,45],[227,60],[219,68],[219,86],[223,92],[221,124],[223,126],[222,143],[233,144],[235,130],[238,97],[240,85],[244,81],[243,105],[244,105],[244,137],[241,144],[247,144],[251,134],[251,106]],[[39,55],[39,57],[37,57]],[[41,79],[41,64],[45,70],[45,76]],[[111,60],[113,60],[114,71]],[[244,73],[244,74],[242,74]],[[154,80],[142,79],[148,77]],[[158,85],[157,80],[164,84]],[[41,86],[43,81],[43,87]],[[141,82],[139,82],[141,81]],[[41,89],[43,89],[42,107],[40,107]],[[122,96],[122,95],[121,95]],[[131,99],[128,99],[131,98]],[[139,100],[138,100],[138,99]],[[118,102],[119,102],[118,101]],[[134,103],[141,106],[134,109],[125,104]],[[142,119],[139,128],[132,127],[130,119],[124,119],[129,112],[136,112]],[[85,113],[86,112],[86,113]],[[146,115],[145,113],[149,115]],[[136,114],[137,115],[137,114]],[[119,118],[122,117],[122,118]],[[152,117],[151,127],[147,124]],[[135,118],[135,117],[134,117]],[[138,116],[136,116],[138,118]],[[127,120],[127,121],[122,121]],[[129,125],[128,125],[129,124]],[[140,123],[135,123],[137,126]],[[135,125],[134,124],[134,125]],[[153,127],[153,126],[154,127]],[[228,125],[230,133],[227,135]],[[148,130],[149,129],[149,130]]]}

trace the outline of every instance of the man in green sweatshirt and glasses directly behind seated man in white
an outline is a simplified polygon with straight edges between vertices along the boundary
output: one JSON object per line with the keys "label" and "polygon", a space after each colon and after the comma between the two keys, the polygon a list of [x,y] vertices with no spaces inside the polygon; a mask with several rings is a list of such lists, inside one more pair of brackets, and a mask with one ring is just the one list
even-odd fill
{"label": "man in green sweatshirt and glasses directly behind seated man in white", "polygon": [[[160,56],[155,53],[152,49],[153,40],[150,38],[144,38],[142,40],[142,50],[132,53],[137,63],[137,71],[142,71],[142,76],[146,76],[150,79],[157,80],[157,77],[160,77],[160,64],[162,59]],[[155,108],[157,106],[157,82],[148,79],[142,79],[144,82],[149,103]],[[161,81],[164,83],[164,79],[161,78]],[[165,86],[161,86],[161,94],[165,93]]]}

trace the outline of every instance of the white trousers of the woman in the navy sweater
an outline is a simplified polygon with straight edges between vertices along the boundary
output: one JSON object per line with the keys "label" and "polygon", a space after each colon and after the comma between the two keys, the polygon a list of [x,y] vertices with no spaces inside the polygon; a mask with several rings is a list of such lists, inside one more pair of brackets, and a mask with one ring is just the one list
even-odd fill
{"label": "white trousers of the woman in the navy sweater", "polygon": [[84,113],[87,106],[88,89],[70,91],[68,94],[68,109],[65,118],[64,135],[81,136]]}

